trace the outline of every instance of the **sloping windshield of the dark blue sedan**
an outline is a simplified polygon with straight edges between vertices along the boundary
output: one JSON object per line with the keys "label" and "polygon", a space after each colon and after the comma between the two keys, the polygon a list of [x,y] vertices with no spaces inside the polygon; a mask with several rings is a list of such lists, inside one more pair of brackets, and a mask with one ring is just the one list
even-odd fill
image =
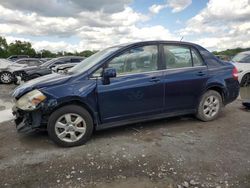
{"label": "sloping windshield of the dark blue sedan", "polygon": [[119,47],[111,47],[107,48],[105,50],[99,51],[92,56],[84,59],[81,63],[71,68],[68,73],[69,74],[77,74],[82,73],[90,69],[91,67],[95,66],[97,63],[99,63],[102,59],[109,56],[112,52],[118,50]]}

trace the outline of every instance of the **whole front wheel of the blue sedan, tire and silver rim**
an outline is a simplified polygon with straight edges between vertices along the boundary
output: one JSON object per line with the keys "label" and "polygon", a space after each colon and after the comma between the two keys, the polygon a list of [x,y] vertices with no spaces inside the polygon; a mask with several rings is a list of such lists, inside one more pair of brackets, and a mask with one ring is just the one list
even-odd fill
{"label": "whole front wheel of the blue sedan, tire and silver rim", "polygon": [[56,144],[72,147],[86,143],[93,127],[93,119],[87,110],[77,105],[67,105],[51,114],[47,130]]}

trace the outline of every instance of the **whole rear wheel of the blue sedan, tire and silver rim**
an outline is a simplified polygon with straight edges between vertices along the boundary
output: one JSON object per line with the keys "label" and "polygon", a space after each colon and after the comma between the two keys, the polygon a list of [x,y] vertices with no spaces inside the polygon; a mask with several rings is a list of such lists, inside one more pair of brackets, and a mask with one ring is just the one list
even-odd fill
{"label": "whole rear wheel of the blue sedan, tire and silver rim", "polygon": [[201,121],[212,121],[219,116],[222,107],[223,103],[220,93],[208,90],[201,97],[196,117]]}

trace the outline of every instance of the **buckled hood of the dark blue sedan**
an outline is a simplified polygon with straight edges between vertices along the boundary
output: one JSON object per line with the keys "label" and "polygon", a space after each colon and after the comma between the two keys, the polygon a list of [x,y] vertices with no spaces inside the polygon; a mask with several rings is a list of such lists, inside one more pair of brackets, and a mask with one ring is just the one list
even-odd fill
{"label": "buckled hood of the dark blue sedan", "polygon": [[63,84],[66,81],[68,81],[72,75],[66,75],[66,74],[49,74],[46,76],[38,77],[36,79],[30,80],[23,85],[20,85],[17,87],[12,96],[15,98],[19,98],[25,93],[33,90],[33,89],[40,89],[40,88],[46,88],[50,86],[55,86],[59,84]]}

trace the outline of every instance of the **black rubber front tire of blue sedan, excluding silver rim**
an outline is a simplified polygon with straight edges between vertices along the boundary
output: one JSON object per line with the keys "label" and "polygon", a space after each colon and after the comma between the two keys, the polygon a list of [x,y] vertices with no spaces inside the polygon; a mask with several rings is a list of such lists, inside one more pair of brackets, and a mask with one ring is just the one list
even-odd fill
{"label": "black rubber front tire of blue sedan, excluding silver rim", "polygon": [[[58,120],[59,117],[61,117],[62,115],[66,114],[66,113],[75,113],[80,115],[86,122],[86,133],[85,135],[78,141],[76,142],[64,142],[62,140],[60,140],[55,132],[55,123]],[[48,134],[50,136],[50,138],[58,145],[63,146],[63,147],[72,147],[72,146],[79,146],[79,145],[83,145],[85,142],[87,142],[93,132],[93,119],[91,117],[91,115],[89,114],[89,112],[84,109],[81,106],[78,105],[67,105],[67,106],[63,106],[59,109],[57,109],[56,111],[54,111],[51,116],[49,117],[48,120],[48,126],[47,126],[47,130],[48,130]]]}

